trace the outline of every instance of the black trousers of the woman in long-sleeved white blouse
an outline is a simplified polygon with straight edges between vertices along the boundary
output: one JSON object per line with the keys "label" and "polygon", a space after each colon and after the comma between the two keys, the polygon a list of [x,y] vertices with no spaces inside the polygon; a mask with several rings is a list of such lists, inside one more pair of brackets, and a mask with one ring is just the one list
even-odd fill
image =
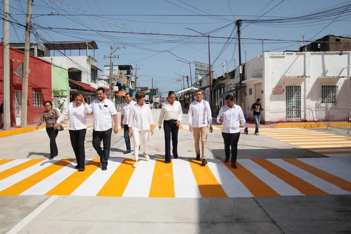
{"label": "black trousers of the woman in long-sleeved white blouse", "polygon": [[172,153],[173,157],[178,157],[178,131],[177,121],[163,121],[163,131],[164,131],[164,148],[165,148],[165,162],[170,162],[170,138],[172,138]]}

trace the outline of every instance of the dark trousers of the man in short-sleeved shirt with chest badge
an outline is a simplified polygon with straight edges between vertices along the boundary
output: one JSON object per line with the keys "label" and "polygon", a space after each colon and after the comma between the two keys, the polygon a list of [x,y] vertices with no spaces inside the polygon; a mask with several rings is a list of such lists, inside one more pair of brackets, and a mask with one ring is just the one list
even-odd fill
{"label": "dark trousers of the man in short-sleeved shirt with chest badge", "polygon": [[[112,128],[106,131],[93,130],[93,147],[100,156],[102,166],[107,166],[108,158],[110,157]],[[101,149],[101,141],[103,141],[104,150]]]}

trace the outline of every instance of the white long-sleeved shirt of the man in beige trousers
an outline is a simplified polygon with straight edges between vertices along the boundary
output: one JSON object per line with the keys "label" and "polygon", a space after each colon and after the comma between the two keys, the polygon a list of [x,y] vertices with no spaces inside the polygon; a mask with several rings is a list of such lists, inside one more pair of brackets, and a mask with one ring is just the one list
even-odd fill
{"label": "white long-sleeved shirt of the man in beige trousers", "polygon": [[189,125],[193,128],[212,126],[212,112],[207,100],[195,100],[190,103],[188,112]]}

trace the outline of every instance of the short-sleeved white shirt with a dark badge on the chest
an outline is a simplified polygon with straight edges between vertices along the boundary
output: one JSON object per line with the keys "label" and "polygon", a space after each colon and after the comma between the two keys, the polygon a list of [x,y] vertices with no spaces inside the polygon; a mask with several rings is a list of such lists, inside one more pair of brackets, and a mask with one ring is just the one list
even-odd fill
{"label": "short-sleeved white shirt with a dark badge on the chest", "polygon": [[117,114],[117,110],[111,100],[106,98],[100,101],[96,98],[90,103],[90,107],[93,109],[95,131],[106,131],[113,127],[112,116]]}

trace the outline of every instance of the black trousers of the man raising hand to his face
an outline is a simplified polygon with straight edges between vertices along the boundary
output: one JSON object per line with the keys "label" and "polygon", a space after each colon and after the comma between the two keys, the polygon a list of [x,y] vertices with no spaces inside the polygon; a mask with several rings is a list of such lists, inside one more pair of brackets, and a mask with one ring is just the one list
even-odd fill
{"label": "black trousers of the man raising hand to his face", "polygon": [[86,129],[81,130],[70,130],[70,139],[71,145],[74,151],[74,155],[76,156],[78,168],[84,169],[85,165],[85,149],[84,149],[84,141],[85,134],[87,133]]}

